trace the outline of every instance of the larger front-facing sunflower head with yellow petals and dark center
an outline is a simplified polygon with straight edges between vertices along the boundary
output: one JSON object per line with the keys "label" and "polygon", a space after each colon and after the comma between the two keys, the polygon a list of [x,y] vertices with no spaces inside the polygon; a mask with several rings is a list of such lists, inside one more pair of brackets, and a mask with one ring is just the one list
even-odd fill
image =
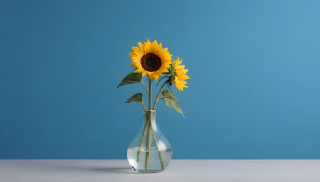
{"label": "larger front-facing sunflower head with yellow petals and dark center", "polygon": [[137,67],[134,72],[142,72],[142,76],[149,75],[150,79],[159,79],[163,72],[167,72],[170,67],[171,54],[168,48],[162,48],[162,43],[158,44],[156,40],[150,42],[149,39],[143,44],[138,42],[138,47],[132,47],[130,52],[130,65]]}

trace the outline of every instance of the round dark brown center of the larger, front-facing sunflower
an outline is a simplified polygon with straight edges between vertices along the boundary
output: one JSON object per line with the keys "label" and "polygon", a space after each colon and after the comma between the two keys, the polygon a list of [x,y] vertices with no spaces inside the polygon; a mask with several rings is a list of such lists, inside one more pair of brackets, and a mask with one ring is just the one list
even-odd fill
{"label": "round dark brown center of the larger, front-facing sunflower", "polygon": [[141,65],[146,71],[156,71],[161,67],[161,59],[153,53],[148,53],[141,58]]}

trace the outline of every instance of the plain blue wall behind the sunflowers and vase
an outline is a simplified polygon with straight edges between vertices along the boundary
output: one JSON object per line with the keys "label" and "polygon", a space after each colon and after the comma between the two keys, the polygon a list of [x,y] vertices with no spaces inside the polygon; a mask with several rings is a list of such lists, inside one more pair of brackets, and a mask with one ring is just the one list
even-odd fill
{"label": "plain blue wall behind the sunflowers and vase", "polygon": [[[320,1],[0,1],[0,158],[126,159],[137,41],[189,69],[174,159],[320,159]],[[158,87],[159,88],[159,87]],[[144,93],[144,92],[143,92]],[[155,94],[154,94],[155,95]]]}

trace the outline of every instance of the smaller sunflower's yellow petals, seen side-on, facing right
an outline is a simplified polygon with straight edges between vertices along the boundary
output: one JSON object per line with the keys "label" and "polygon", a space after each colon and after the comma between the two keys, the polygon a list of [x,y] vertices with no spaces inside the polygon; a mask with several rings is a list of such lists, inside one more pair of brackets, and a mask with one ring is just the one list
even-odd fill
{"label": "smaller sunflower's yellow petals, seen side-on, facing right", "polygon": [[174,62],[172,62],[172,69],[175,70],[174,72],[174,85],[176,88],[179,89],[179,91],[183,91],[183,88],[188,88],[185,84],[187,84],[186,79],[189,78],[186,73],[188,72],[188,69],[184,69],[184,65],[180,65],[182,63],[182,59],[180,60],[180,57]]}

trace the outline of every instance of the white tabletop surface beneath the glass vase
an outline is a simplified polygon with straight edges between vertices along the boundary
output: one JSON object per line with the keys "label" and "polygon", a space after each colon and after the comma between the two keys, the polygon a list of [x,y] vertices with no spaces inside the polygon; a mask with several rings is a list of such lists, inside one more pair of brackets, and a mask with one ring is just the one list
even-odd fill
{"label": "white tabletop surface beneath the glass vase", "polygon": [[320,160],[173,160],[154,174],[134,172],[127,160],[0,160],[0,181],[319,182]]}

